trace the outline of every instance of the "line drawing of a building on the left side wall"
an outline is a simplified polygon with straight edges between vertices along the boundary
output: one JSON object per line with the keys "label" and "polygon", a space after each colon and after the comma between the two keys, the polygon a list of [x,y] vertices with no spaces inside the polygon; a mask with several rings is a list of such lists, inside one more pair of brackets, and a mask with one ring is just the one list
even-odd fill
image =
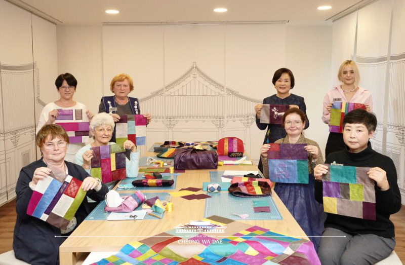
{"label": "line drawing of a building on the left side wall", "polygon": [[[36,82],[36,84],[34,84]],[[0,204],[15,198],[20,169],[35,160],[34,86],[39,91],[36,63],[0,64]],[[38,112],[39,115],[39,112]]]}

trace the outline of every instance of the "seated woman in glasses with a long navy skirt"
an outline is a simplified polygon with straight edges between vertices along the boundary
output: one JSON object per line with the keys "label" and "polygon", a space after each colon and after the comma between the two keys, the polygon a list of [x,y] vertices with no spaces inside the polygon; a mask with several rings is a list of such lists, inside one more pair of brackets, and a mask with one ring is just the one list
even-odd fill
{"label": "seated woman in glasses with a long navy skirt", "polygon": [[[297,220],[305,234],[318,248],[320,238],[310,236],[320,236],[323,231],[323,221],[325,221],[325,213],[323,207],[314,196],[314,176],[313,169],[317,164],[323,163],[322,153],[319,145],[310,139],[304,137],[302,131],[305,128],[306,116],[305,113],[298,108],[290,108],[282,116],[282,123],[287,136],[278,139],[274,143],[306,143],[305,149],[308,152],[308,184],[299,183],[276,183],[274,191],[280,197],[281,201],[286,205]],[[263,144],[261,148],[261,160],[263,163],[263,174],[269,177],[269,165],[267,161],[267,151],[271,149],[270,144]]]}

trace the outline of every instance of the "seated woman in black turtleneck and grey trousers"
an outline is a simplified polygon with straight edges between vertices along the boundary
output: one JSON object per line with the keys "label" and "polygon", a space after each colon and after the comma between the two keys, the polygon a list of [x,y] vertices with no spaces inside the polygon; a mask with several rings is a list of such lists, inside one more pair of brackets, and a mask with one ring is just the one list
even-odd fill
{"label": "seated woman in black turtleneck and grey trousers", "polygon": [[[376,216],[367,220],[328,213],[318,256],[322,264],[374,264],[386,258],[395,247],[394,224],[390,214],[401,208],[401,196],[392,160],[371,148],[377,119],[366,110],[355,109],[343,120],[343,140],[346,148],[330,154],[325,163],[344,166],[371,167],[368,172],[375,181]],[[322,175],[328,167],[314,169],[315,199],[322,200]],[[327,237],[325,237],[327,236]]]}

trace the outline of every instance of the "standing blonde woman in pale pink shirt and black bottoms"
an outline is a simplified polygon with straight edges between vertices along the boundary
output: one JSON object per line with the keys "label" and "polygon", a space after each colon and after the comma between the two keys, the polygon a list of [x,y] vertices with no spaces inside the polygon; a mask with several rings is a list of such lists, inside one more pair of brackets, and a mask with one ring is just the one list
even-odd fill
{"label": "standing blonde woman in pale pink shirt and black bottoms", "polygon": [[[323,98],[322,121],[324,123],[329,124],[333,101],[366,104],[366,110],[369,112],[372,111],[373,97],[370,91],[358,86],[360,82],[360,74],[357,64],[354,61],[346,60],[340,65],[338,79],[341,82],[341,85],[329,90],[325,95],[325,98]],[[330,132],[325,149],[326,157],[328,157],[329,154],[340,151],[344,148],[345,143],[343,142],[343,134]]]}

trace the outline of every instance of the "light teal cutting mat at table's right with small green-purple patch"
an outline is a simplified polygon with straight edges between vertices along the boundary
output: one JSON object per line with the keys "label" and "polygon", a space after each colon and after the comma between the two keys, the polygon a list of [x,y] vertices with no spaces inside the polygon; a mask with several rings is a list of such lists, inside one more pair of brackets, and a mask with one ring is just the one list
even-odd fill
{"label": "light teal cutting mat at table's right with small green-purple patch", "polygon": [[[230,193],[209,193],[212,198],[206,199],[204,217],[218,215],[233,220],[244,220],[235,214],[249,214],[246,220],[282,220],[271,196],[267,197],[236,197]],[[267,201],[270,212],[256,212],[253,210],[253,201]]]}

